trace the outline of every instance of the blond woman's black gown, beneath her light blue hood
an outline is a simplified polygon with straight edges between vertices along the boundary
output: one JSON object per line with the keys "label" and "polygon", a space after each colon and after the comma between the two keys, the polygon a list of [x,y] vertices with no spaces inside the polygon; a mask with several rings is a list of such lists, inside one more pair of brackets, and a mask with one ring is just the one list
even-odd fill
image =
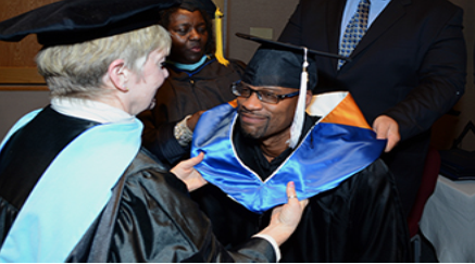
{"label": "blond woman's black gown, beneath her light blue hood", "polygon": [[[52,159],[95,125],[48,106],[12,136],[0,153],[0,246]],[[137,154],[67,262],[275,262],[259,238],[226,251],[185,184],[151,156]]]}

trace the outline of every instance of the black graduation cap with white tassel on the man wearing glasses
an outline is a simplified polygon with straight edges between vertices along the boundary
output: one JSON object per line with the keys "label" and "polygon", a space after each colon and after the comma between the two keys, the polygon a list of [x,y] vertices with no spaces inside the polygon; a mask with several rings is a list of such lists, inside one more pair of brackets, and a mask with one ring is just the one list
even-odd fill
{"label": "black graduation cap with white tassel on the man wearing glasses", "polygon": [[273,41],[237,33],[236,36],[261,43],[246,67],[242,81],[252,86],[276,86],[300,89],[299,101],[290,128],[289,147],[295,149],[302,133],[308,89],[317,84],[315,56],[349,60],[338,54],[311,50],[307,47]]}

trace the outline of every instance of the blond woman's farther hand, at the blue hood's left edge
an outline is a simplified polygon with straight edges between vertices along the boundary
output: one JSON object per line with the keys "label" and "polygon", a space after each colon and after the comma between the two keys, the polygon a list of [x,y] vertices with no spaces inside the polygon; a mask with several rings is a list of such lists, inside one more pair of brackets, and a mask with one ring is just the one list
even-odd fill
{"label": "blond woman's farther hand, at the blue hood's left edge", "polygon": [[186,184],[188,191],[190,192],[208,184],[201,174],[195,169],[195,166],[202,162],[203,158],[204,153],[201,152],[199,155],[192,159],[178,163],[178,165],[170,171]]}

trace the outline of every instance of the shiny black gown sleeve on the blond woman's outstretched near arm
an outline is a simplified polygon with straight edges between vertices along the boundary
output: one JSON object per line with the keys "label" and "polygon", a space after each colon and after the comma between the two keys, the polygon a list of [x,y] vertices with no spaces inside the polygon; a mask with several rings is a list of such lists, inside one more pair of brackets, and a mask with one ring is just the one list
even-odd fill
{"label": "shiny black gown sleeve on the blond woman's outstretched near arm", "polygon": [[173,174],[143,171],[127,180],[112,238],[112,262],[275,262],[265,239],[227,251]]}

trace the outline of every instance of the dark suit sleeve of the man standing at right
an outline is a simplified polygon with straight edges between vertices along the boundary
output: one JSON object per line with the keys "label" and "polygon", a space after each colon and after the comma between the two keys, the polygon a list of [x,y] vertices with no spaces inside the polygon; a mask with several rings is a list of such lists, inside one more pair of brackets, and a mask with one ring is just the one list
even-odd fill
{"label": "dark suit sleeve of the man standing at right", "polygon": [[418,68],[420,85],[386,111],[386,115],[398,122],[402,140],[429,129],[463,96],[467,55],[462,22],[463,11],[457,9],[434,33],[428,47],[421,47],[426,52]]}

